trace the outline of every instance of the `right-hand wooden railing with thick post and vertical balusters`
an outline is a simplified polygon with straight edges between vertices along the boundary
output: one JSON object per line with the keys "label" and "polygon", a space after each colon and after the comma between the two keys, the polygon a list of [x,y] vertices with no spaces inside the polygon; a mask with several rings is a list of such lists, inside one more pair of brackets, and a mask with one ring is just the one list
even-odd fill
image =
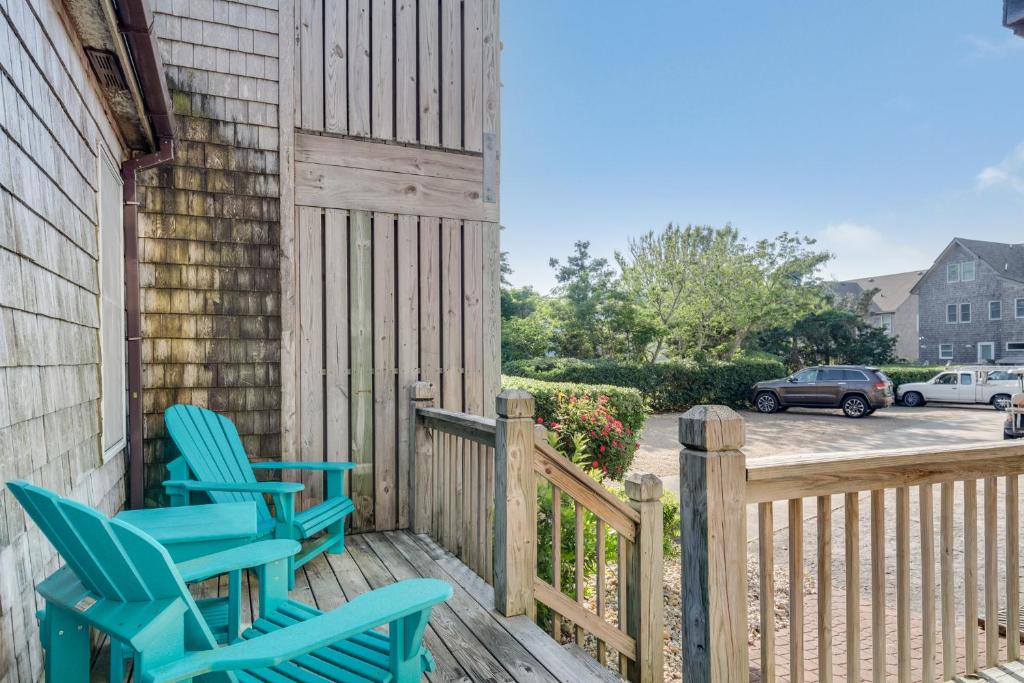
{"label": "right-hand wooden railing with thick post and vertical balusters", "polygon": [[[760,601],[760,643],[751,660],[761,681],[799,682],[809,671],[819,681],[944,681],[1020,656],[1024,444],[746,462],[742,419],[722,407],[687,413],[680,439],[682,609],[697,615],[683,620],[684,680],[748,679],[748,505],[758,517],[751,593]],[[779,528],[775,505],[783,502]],[[808,545],[813,551],[805,553]],[[788,612],[780,626],[779,588]]]}

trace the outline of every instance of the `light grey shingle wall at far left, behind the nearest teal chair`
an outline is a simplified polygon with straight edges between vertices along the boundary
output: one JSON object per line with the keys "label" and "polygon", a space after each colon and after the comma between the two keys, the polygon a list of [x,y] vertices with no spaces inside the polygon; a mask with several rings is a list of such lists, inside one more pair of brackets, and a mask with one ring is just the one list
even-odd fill
{"label": "light grey shingle wall at far left, behind the nearest teal chair", "polygon": [[57,556],[3,486],[28,479],[112,514],[102,463],[98,159],[122,150],[60,3],[0,3],[0,680],[42,678],[36,583]]}

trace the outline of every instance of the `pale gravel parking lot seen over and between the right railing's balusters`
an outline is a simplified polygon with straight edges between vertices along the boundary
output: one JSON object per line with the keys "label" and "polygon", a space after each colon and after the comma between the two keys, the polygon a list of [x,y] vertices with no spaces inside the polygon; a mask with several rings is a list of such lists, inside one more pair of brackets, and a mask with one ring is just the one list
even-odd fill
{"label": "pale gravel parking lot seen over and between the right railing's balusters", "polygon": [[[761,458],[765,456],[792,453],[819,453],[829,452],[853,452],[867,450],[898,449],[909,446],[926,445],[951,445],[957,443],[970,443],[978,441],[991,441],[1001,437],[1002,415],[987,408],[934,408],[905,409],[892,408],[880,411],[873,416],[862,420],[850,420],[843,417],[842,413],[833,411],[806,411],[793,410],[784,414],[760,415],[757,413],[741,413],[746,422],[746,445],[743,452],[748,458]],[[644,438],[641,442],[640,452],[634,464],[634,470],[653,472],[663,477],[666,488],[678,494],[679,490],[679,442],[678,442],[678,421],[679,415],[658,415],[653,416],[647,423]],[[938,507],[939,488],[934,488],[935,528],[939,528]],[[978,486],[978,514],[979,523],[983,511],[983,488]],[[964,520],[962,514],[963,487],[956,486],[954,497],[954,562],[955,562],[955,584],[957,593],[963,591],[963,528]],[[846,589],[846,567],[843,559],[843,542],[845,527],[843,517],[843,499],[841,496],[833,497],[833,581],[837,589]],[[775,589],[773,596],[775,602],[775,627],[784,626],[787,623],[787,528],[786,528],[786,504],[778,503],[774,506],[775,520]],[[1001,481],[999,495],[997,497],[997,517],[1001,528],[1005,507],[1005,496]],[[886,520],[886,577],[887,594],[889,602],[895,600],[895,492],[887,492],[886,509],[888,511]],[[910,495],[910,556],[920,558],[920,535],[919,524],[921,517],[918,489],[911,489]],[[867,585],[870,575],[868,562],[870,561],[870,532],[869,532],[869,494],[861,496],[860,503],[860,590],[865,595],[869,595]],[[807,499],[804,502],[804,548],[806,551],[805,565],[807,567],[807,581],[805,593],[816,592],[814,585],[814,562],[816,553],[816,520],[815,520],[815,500]],[[748,515],[748,539],[755,540],[757,537],[757,510],[756,506],[749,506]],[[979,542],[981,536],[979,535]],[[756,643],[759,634],[759,582],[758,582],[758,561],[757,546],[750,543],[751,556],[748,561],[748,597],[749,597],[749,637],[751,643]],[[981,549],[979,548],[979,551]],[[1001,552],[1000,558],[1005,557]],[[983,567],[983,556],[979,556],[979,570]],[[936,575],[938,575],[938,553],[935,557]],[[1005,562],[1000,561],[1000,583],[1001,571]],[[911,584],[920,585],[921,562],[920,559],[911,564]],[[979,582],[980,583],[980,582]],[[666,606],[666,680],[680,680],[680,564],[678,560],[669,560],[665,567],[665,606]],[[915,612],[920,612],[921,601],[915,598],[912,601]],[[979,606],[983,606],[984,601],[979,595]]]}

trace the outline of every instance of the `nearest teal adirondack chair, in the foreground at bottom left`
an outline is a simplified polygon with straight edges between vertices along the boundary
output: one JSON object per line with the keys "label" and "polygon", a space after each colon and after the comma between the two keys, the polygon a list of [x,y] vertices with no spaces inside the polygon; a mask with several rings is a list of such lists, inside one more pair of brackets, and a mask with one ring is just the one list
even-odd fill
{"label": "nearest teal adirondack chair, in the foreground at bottom left", "polygon": [[[324,613],[288,599],[286,558],[296,542],[215,553],[190,560],[193,569],[255,567],[259,578],[259,617],[242,640],[218,647],[215,617],[150,536],[28,482],[7,487],[67,562],[36,588],[46,601],[40,636],[48,683],[89,681],[90,627],[125,644],[143,683],[411,683],[433,670],[422,639],[431,608],[452,596],[444,582],[399,582]],[[374,631],[384,625],[386,634]]]}

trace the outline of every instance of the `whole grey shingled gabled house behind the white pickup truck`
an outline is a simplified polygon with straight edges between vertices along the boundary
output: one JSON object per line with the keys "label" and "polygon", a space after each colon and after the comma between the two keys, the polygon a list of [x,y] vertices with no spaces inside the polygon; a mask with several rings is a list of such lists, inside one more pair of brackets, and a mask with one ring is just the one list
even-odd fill
{"label": "whole grey shingled gabled house behind the white pickup truck", "polygon": [[922,361],[1024,364],[1024,244],[956,238],[912,292]]}

